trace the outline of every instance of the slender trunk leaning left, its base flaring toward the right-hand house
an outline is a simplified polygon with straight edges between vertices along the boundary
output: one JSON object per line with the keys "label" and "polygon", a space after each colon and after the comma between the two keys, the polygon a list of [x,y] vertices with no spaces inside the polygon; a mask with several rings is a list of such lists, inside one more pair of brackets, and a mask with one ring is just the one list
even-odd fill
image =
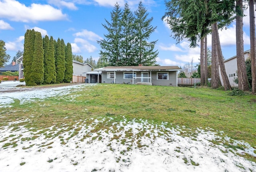
{"label": "slender trunk leaning left, its base flaring toward the right-hand house", "polygon": [[225,64],[224,64],[224,60],[223,60],[223,55],[222,55],[222,51],[221,51],[221,46],[220,46],[220,37],[219,37],[219,32],[218,32],[218,25],[217,22],[213,24],[214,27],[214,32],[216,34],[214,34],[215,39],[216,39],[216,46],[217,46],[217,54],[218,54],[218,62],[219,62],[219,66],[220,66],[220,73],[222,76],[222,81],[223,81],[223,86],[224,86],[224,90],[232,90],[229,80],[228,80],[228,76],[226,73],[226,69],[225,69]]}

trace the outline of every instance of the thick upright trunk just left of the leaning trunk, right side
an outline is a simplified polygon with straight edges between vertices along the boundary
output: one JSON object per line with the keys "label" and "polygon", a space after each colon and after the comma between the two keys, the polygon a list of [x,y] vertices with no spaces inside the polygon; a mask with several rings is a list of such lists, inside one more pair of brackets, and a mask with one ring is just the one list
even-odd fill
{"label": "thick upright trunk just left of the leaning trunk, right side", "polygon": [[212,24],[212,88],[218,88],[221,86],[220,75],[219,75],[219,64],[218,64],[218,53],[217,53],[217,42],[216,42],[216,31]]}

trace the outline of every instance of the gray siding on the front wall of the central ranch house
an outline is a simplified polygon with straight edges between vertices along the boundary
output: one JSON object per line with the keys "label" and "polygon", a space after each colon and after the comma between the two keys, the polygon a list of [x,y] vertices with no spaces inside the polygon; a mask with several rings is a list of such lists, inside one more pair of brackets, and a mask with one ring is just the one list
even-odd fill
{"label": "gray siding on the front wall of the central ranch house", "polygon": [[[160,72],[160,71],[158,71]],[[137,77],[141,77],[141,72],[134,72],[136,73]],[[168,72],[168,80],[157,80],[157,71],[152,71],[152,85],[159,85],[159,86],[177,86],[177,72],[176,71],[169,71]],[[148,77],[150,77],[150,71],[148,71]],[[134,84],[137,82],[141,82],[141,78],[134,79]],[[148,79],[150,82],[150,79]],[[114,83],[114,78],[108,79],[107,72],[102,71],[102,83]],[[132,79],[124,79],[124,72],[116,72],[115,78],[116,84],[132,84]]]}

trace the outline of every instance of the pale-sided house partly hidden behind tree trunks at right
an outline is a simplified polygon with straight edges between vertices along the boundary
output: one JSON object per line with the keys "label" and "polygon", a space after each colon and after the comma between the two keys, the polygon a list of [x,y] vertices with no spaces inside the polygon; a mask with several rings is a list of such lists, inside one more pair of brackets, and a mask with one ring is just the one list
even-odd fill
{"label": "pale-sided house partly hidden behind tree trunks at right", "polygon": [[[250,58],[250,50],[247,50],[244,52],[244,60],[246,60],[247,58]],[[237,78],[237,61],[236,61],[236,56],[233,56],[227,60],[224,60],[224,64],[225,64],[225,69],[226,69],[226,73],[228,76],[228,80],[230,82],[230,86],[234,87],[234,86],[238,86],[238,84],[234,83],[234,78]],[[220,73],[220,68],[219,68],[219,73]],[[220,73],[220,81],[221,84],[223,86],[223,80],[222,80],[222,76]]]}

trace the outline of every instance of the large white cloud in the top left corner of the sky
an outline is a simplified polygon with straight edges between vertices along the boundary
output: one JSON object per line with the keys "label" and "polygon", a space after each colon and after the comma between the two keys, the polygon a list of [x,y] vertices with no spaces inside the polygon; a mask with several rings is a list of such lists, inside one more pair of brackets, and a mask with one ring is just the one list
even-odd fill
{"label": "large white cloud in the top left corner of the sky", "polygon": [[0,17],[8,18],[12,21],[37,22],[37,21],[55,21],[66,20],[67,15],[62,14],[61,10],[53,8],[50,5],[31,4],[25,6],[16,0],[0,1]]}

